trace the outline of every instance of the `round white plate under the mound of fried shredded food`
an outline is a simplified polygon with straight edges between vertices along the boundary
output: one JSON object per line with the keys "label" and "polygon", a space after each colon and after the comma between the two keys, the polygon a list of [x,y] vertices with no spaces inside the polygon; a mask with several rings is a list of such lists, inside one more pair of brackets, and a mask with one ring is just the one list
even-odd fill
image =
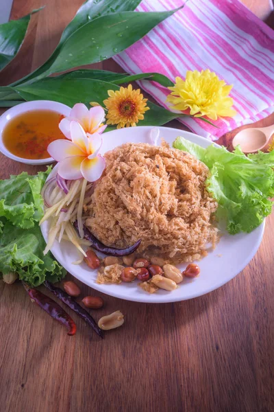
{"label": "round white plate under the mound of fried shredded food", "polygon": [[[103,135],[102,154],[110,149],[115,148],[126,142],[146,142],[149,141],[149,131],[151,127],[135,127],[124,128],[120,130],[114,130]],[[188,133],[183,130],[177,130],[174,128],[160,128],[160,137],[164,137],[166,141],[172,145],[177,136],[183,136],[186,139],[199,144],[203,148],[206,148],[211,144],[210,141]],[[47,233],[49,231],[49,222],[44,222],[41,226],[42,235],[47,240]],[[107,295],[119,297],[129,301],[138,301],[146,303],[166,303],[182,301],[185,299],[191,299],[193,297],[204,295],[212,290],[219,288],[230,279],[238,275],[250,260],[255,255],[262,236],[264,233],[264,223],[260,225],[256,230],[247,234],[240,233],[238,235],[231,236],[228,233],[224,233],[221,237],[216,249],[210,252],[206,258],[203,258],[199,262],[201,268],[201,275],[195,279],[186,279],[179,288],[173,290],[173,292],[167,292],[165,290],[158,290],[156,293],[150,295],[139,288],[138,282],[132,284],[97,284],[96,277],[97,271],[92,271],[83,262],[81,265],[74,265],[71,262],[79,259],[79,255],[75,251],[75,247],[66,241],[62,241],[60,244],[55,241],[51,252],[55,258],[66,268],[66,270],[79,279],[84,284],[87,284],[91,288],[97,289]],[[185,268],[186,264],[178,266],[179,268]]]}

